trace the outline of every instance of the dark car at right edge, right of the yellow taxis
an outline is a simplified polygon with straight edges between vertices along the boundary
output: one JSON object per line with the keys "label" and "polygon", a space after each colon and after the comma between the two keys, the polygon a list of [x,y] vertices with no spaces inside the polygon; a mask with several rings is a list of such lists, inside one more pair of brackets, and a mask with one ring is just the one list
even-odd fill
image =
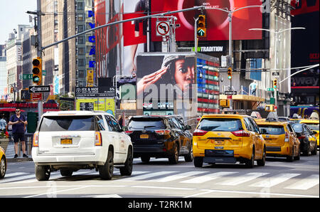
{"label": "dark car at right edge, right of the yellow taxis", "polygon": [[309,152],[311,154],[316,154],[316,131],[312,131],[306,124],[292,124],[294,132],[296,132],[297,137],[300,141],[300,151],[304,155],[308,156]]}

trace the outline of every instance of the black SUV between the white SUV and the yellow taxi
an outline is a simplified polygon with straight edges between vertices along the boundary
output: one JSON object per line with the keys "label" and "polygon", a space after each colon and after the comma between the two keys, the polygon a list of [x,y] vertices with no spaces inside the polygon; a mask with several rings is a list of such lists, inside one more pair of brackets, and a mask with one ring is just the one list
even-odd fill
{"label": "black SUV between the white SUV and the yellow taxi", "polygon": [[171,164],[178,163],[179,155],[185,161],[193,160],[190,126],[178,116],[135,116],[127,126],[131,137],[134,157],[149,162],[150,157],[168,158]]}

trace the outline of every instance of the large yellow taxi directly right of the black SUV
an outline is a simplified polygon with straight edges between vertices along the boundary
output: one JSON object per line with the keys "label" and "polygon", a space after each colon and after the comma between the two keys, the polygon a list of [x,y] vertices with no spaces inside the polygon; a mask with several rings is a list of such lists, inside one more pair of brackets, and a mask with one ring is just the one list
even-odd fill
{"label": "large yellow taxi directly right of the black SUV", "polygon": [[245,164],[248,168],[265,166],[265,139],[255,120],[248,115],[203,115],[193,132],[193,163]]}

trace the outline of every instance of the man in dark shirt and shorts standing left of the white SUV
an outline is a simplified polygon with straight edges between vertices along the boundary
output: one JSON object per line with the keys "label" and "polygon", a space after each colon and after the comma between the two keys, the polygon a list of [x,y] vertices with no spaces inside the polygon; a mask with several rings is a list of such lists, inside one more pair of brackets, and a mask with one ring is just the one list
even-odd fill
{"label": "man in dark shirt and shorts standing left of the white SUV", "polygon": [[12,125],[12,134],[14,137],[14,158],[18,157],[18,142],[20,139],[23,157],[28,157],[26,155],[26,139],[24,136],[24,132],[26,130],[26,125],[28,122],[26,121],[26,117],[21,115],[20,108],[16,108],[16,114],[12,115],[9,120],[9,125]]}

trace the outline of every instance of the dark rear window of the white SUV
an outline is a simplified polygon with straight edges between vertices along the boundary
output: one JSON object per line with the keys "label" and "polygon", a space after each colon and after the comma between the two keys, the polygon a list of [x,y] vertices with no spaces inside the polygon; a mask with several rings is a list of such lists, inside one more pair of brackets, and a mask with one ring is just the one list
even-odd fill
{"label": "dark rear window of the white SUV", "polygon": [[47,116],[43,117],[41,132],[95,131],[94,116]]}

